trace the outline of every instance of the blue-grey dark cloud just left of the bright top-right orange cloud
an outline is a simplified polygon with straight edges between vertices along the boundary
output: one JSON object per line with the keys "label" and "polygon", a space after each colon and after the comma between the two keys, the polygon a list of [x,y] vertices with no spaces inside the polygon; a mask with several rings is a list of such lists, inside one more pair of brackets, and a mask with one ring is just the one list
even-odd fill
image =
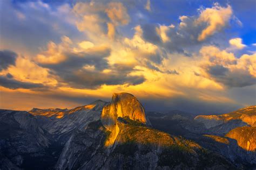
{"label": "blue-grey dark cloud just left of the bright top-right orange cloud", "polygon": [[198,35],[205,29],[207,24],[194,24],[196,19],[196,17],[186,17],[182,21],[184,26],[176,25],[176,27],[166,30],[166,36],[170,39],[170,41],[166,42],[163,42],[157,33],[157,28],[160,25],[143,24],[143,39],[161,47],[161,51],[191,56],[192,52],[198,52],[202,44],[211,42],[211,37],[204,41],[198,41]]}

